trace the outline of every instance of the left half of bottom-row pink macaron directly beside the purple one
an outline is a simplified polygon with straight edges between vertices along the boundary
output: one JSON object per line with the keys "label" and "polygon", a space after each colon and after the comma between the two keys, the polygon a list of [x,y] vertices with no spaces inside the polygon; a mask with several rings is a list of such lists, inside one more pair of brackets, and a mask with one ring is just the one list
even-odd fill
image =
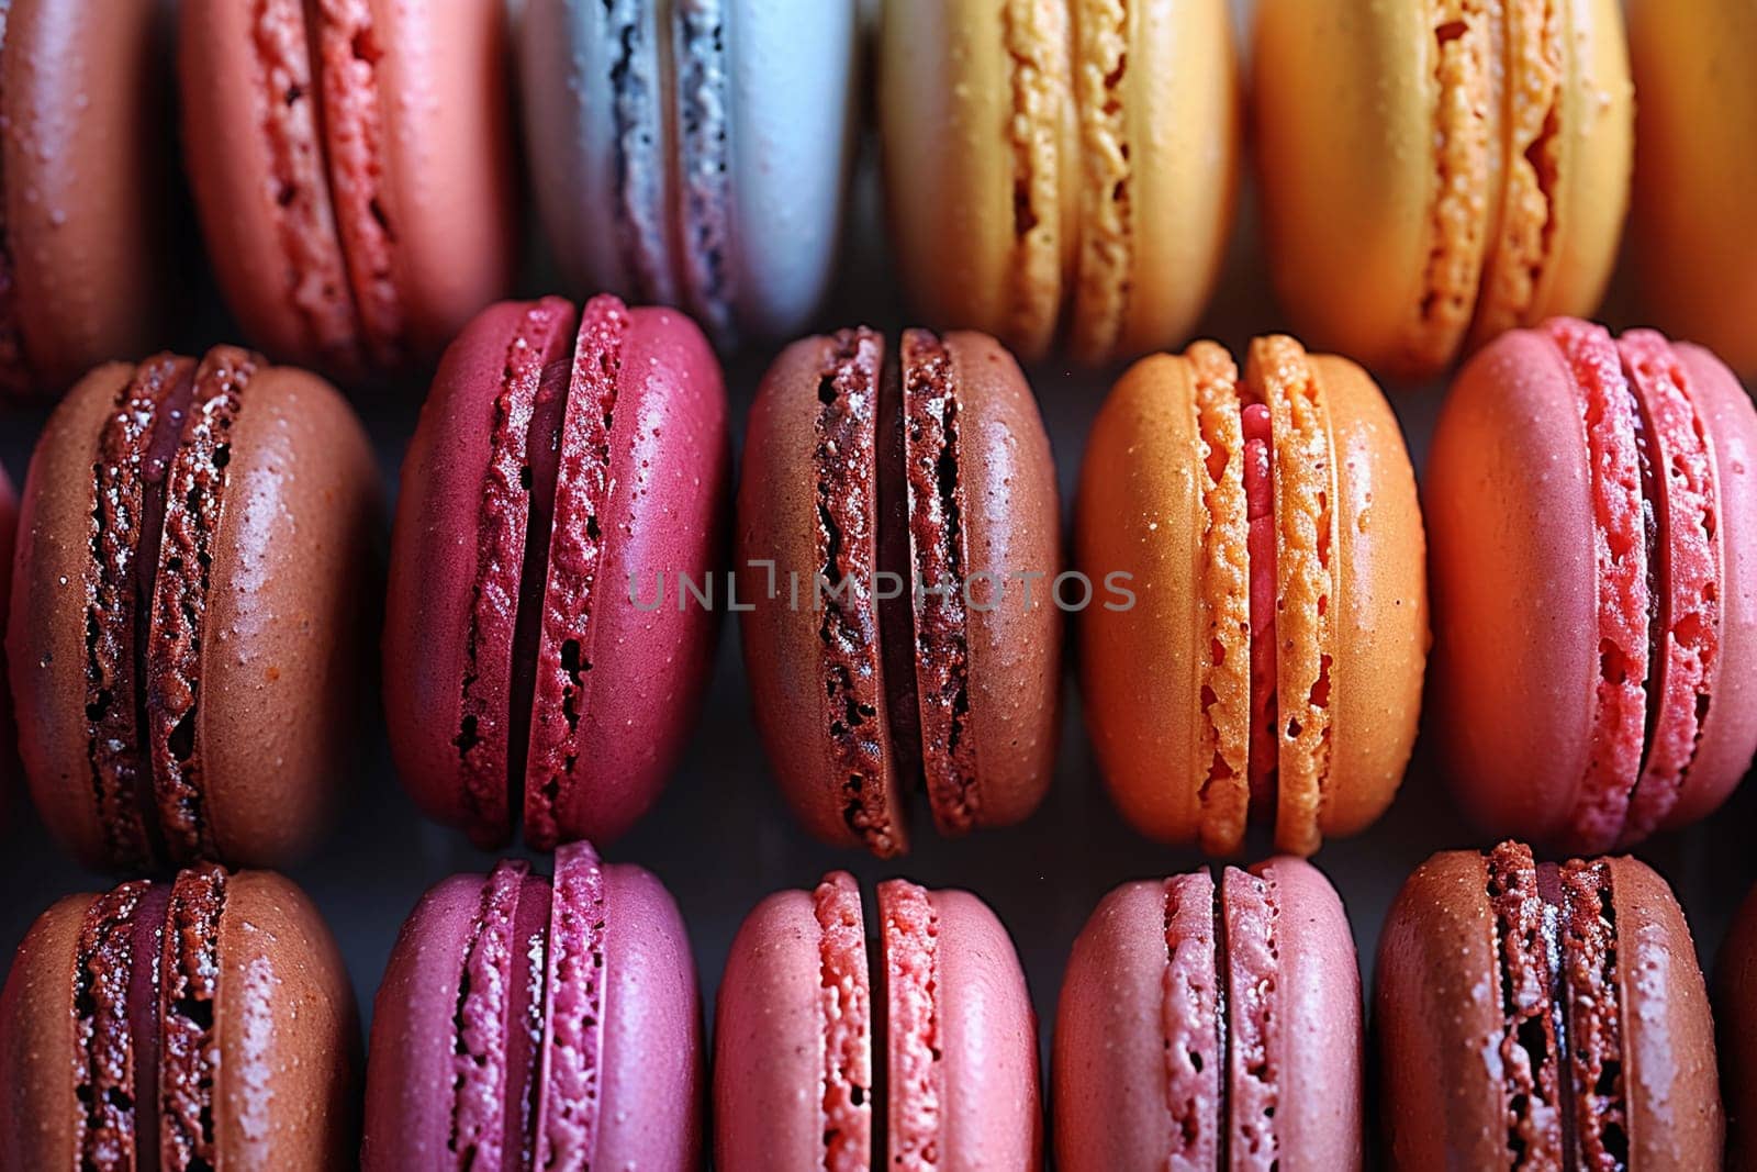
{"label": "left half of bottom-row pink macaron directly beside the purple one", "polygon": [[[763,900],[738,928],[713,1016],[713,1160],[727,1172],[768,1167],[840,1170],[842,1158],[866,1168],[873,1161],[871,993],[864,930],[857,922],[854,880],[847,875],[842,880],[854,891],[852,928],[859,954],[843,961],[856,973],[856,982],[833,979],[829,988],[836,991],[835,1003],[847,1010],[843,1021],[857,1030],[854,1045],[864,1061],[849,1074],[864,1086],[868,1130],[852,1151],[847,1151],[850,1137],[836,1132],[836,1154],[831,1156],[824,1135],[824,1072],[829,1060],[824,930],[813,893],[780,891]],[[826,879],[829,882],[833,877]]]}

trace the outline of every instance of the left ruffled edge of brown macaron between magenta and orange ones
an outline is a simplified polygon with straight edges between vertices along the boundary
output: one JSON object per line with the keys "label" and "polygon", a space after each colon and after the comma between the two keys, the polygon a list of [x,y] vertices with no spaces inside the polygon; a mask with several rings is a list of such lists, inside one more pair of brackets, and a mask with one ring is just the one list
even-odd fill
{"label": "left ruffled edge of brown macaron between magenta and orange ones", "polygon": [[840,330],[819,373],[817,569],[805,589],[822,615],[829,742],[842,775],[842,817],[873,854],[900,849],[886,807],[886,729],[878,722],[882,652],[873,604],[877,546],[877,399],[884,341]]}

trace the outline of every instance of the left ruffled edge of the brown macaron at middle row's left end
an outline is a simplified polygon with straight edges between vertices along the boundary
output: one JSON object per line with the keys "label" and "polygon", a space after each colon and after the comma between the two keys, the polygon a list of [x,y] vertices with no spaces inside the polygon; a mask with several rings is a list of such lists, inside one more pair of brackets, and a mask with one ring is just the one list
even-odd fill
{"label": "left ruffled edge of the brown macaron at middle row's left end", "polygon": [[193,383],[188,358],[144,362],[118,392],[91,460],[86,761],[109,857],[137,872],[165,857],[146,756],[146,647],[165,478]]}

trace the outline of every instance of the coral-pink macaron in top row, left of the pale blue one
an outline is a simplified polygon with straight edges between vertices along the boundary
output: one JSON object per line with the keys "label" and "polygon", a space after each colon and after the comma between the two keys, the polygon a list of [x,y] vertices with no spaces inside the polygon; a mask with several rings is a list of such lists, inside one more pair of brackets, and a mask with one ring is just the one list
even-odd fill
{"label": "coral-pink macaron in top row, left of the pale blue one", "polygon": [[350,380],[420,365],[518,262],[506,9],[188,0],[183,153],[244,334]]}

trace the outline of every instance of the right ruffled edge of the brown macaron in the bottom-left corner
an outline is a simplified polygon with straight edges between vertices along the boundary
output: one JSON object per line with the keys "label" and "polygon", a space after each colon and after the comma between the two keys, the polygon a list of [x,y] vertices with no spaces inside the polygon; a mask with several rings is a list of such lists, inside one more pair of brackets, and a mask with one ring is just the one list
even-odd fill
{"label": "right ruffled edge of the brown macaron in the bottom-left corner", "polygon": [[167,1172],[211,1172],[214,1077],[220,1037],[220,915],[225,870],[213,863],[179,872],[165,912],[158,1012],[158,1149]]}

